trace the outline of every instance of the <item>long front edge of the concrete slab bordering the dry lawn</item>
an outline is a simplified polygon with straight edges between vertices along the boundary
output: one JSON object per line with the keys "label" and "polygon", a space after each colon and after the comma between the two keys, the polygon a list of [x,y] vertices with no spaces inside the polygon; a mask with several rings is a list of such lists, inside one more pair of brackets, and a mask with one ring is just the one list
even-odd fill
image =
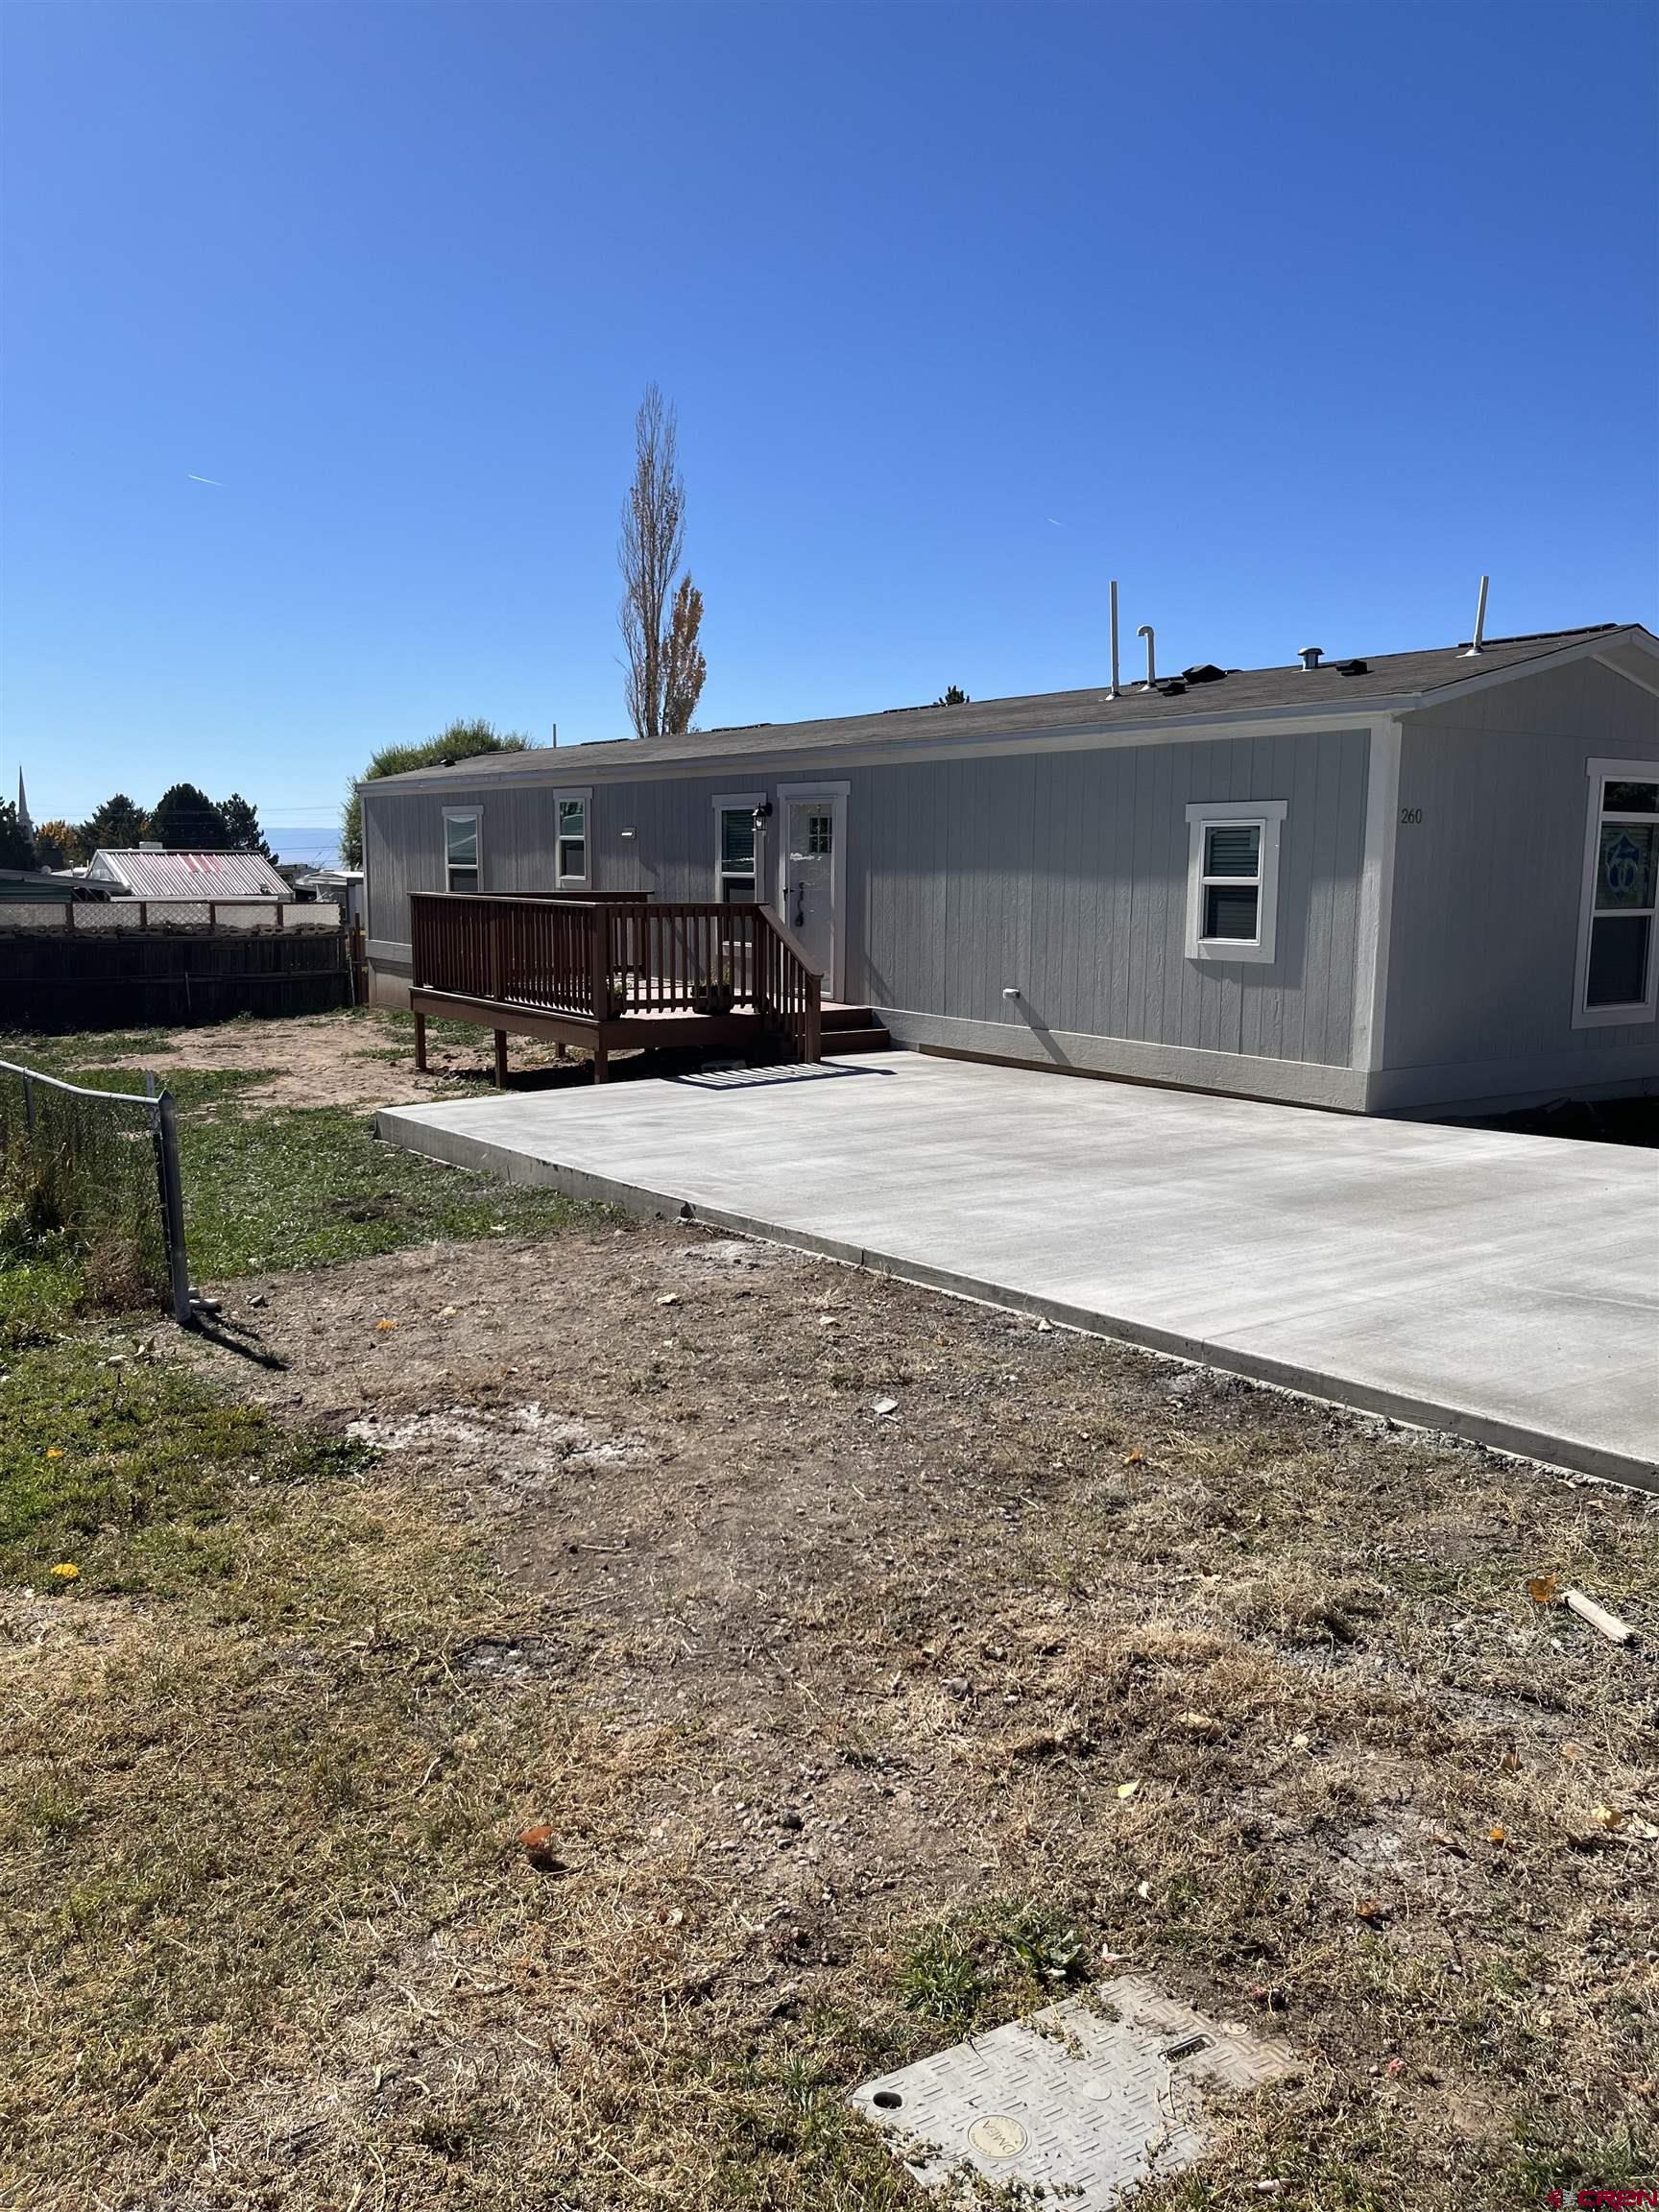
{"label": "long front edge of the concrete slab bordering the dry lawn", "polygon": [[1440,1405],[1433,1398],[1378,1389],[1369,1383],[1354,1383],[1347,1376],[1327,1376],[1316,1367],[1298,1367],[1292,1360],[1239,1352],[1232,1345],[1210,1343],[1179,1329],[1155,1329],[1121,1314],[1102,1314],[1086,1305],[1071,1305],[1064,1298],[1044,1298],[1035,1292],[1011,1290],[1004,1283],[987,1283],[978,1276],[958,1274],[951,1267],[929,1267],[925,1261],[849,1245],[836,1237],[816,1237],[812,1230],[761,1221],[757,1214],[701,1206],[672,1190],[650,1190],[644,1183],[615,1181],[606,1175],[593,1175],[586,1168],[566,1168],[551,1159],[529,1159],[511,1146],[489,1144],[484,1137],[465,1137],[458,1130],[434,1128],[429,1121],[405,1117],[396,1106],[383,1108],[374,1117],[374,1133],[385,1144],[396,1144],[405,1152],[422,1152],[427,1159],[440,1159],[451,1168],[498,1175],[509,1183],[538,1183],[562,1190],[566,1199],[586,1199],[591,1206],[615,1206],[628,1214],[661,1221],[697,1221],[703,1228],[726,1230],[734,1237],[754,1237],[761,1243],[812,1252],[816,1259],[860,1267],[867,1274],[889,1274],[902,1283],[918,1283],[922,1290],[945,1292],[951,1298],[969,1298],[973,1305],[1031,1314],[1033,1321],[1051,1321],[1055,1327],[1075,1329],[1082,1336],[1106,1336],[1117,1343],[1137,1345],[1144,1352],[1164,1352],[1170,1358],[1192,1360],[1201,1367],[1219,1367],[1223,1374],[1237,1374],[1250,1383],[1267,1383],[1272,1389],[1283,1389],[1294,1398],[1316,1398],[1325,1405],[1352,1407],[1360,1413],[1380,1413],[1385,1420],[1458,1436],[1517,1460],[1533,1460],[1557,1473],[1595,1475],[1601,1482],[1619,1482],[1628,1489],[1659,1495],[1659,1467],[1652,1462],[1635,1460],[1621,1451],[1606,1451],[1599,1444],[1584,1444],[1575,1438],[1553,1436],[1546,1429],[1528,1429],[1489,1413],[1471,1413],[1460,1407]]}

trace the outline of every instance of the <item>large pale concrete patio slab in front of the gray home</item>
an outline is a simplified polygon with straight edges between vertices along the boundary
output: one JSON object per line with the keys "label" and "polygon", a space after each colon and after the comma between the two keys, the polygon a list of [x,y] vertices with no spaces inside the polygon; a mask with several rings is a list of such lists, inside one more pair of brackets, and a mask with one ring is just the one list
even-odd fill
{"label": "large pale concrete patio slab in front of the gray home", "polygon": [[378,1130],[1659,1489],[1659,1157],[1637,1148],[914,1053]]}

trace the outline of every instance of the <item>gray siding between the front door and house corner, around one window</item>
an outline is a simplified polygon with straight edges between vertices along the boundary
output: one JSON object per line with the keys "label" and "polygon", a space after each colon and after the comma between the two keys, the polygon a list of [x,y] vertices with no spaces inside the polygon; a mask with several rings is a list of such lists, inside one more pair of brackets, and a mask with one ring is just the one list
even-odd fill
{"label": "gray siding between the front door and house corner, around one window", "polygon": [[[1345,1066],[1367,750],[1343,730],[854,774],[847,989],[1004,1024],[1009,1051],[1037,1026]],[[1287,801],[1272,964],[1186,958],[1206,799]]]}

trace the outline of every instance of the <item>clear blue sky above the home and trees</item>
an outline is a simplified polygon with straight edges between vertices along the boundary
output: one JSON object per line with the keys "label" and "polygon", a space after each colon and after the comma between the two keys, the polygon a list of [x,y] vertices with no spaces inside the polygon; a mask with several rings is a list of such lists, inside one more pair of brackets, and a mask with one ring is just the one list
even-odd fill
{"label": "clear blue sky above the home and trees", "polygon": [[1657,619],[1646,4],[0,18],[38,816],[624,734],[648,378],[703,723]]}

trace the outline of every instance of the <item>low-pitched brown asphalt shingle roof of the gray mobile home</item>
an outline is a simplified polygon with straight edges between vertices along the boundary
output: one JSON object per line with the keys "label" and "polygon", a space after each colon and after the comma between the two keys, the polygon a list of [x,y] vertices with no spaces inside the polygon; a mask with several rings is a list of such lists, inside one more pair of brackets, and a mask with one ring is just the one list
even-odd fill
{"label": "low-pitched brown asphalt shingle roof of the gray mobile home", "polygon": [[[1467,684],[1520,661],[1542,659],[1586,637],[1613,635],[1626,624],[1601,622],[1582,630],[1544,630],[1535,637],[1489,637],[1480,659],[1467,659],[1464,644],[1433,646],[1425,653],[1378,653],[1356,659],[1325,659],[1318,668],[1298,661],[1276,668],[1230,668],[1217,681],[1179,684],[1172,670],[1159,677],[1155,692],[1146,684],[1124,684],[1113,699],[1106,686],[1073,692],[1033,692],[1024,699],[973,699],[969,706],[916,706],[876,714],[838,714],[825,721],[759,721],[739,728],[688,730],[684,737],[622,737],[568,748],[573,772],[633,770],[657,763],[732,761],[743,754],[774,752],[841,752],[867,745],[905,745],[907,741],[951,743],[973,739],[1022,737],[1037,730],[1113,730],[1119,726],[1186,723],[1208,717],[1272,714],[1298,708],[1329,706],[1352,712],[1385,699],[1420,697],[1447,686]],[[1166,688],[1175,681],[1177,688]],[[577,765],[580,763],[580,765]],[[458,761],[458,781],[495,781],[498,776],[549,772],[549,752],[493,752]],[[445,774],[438,770],[438,774]],[[425,783],[434,770],[411,770],[409,776],[387,776],[389,785]]]}

